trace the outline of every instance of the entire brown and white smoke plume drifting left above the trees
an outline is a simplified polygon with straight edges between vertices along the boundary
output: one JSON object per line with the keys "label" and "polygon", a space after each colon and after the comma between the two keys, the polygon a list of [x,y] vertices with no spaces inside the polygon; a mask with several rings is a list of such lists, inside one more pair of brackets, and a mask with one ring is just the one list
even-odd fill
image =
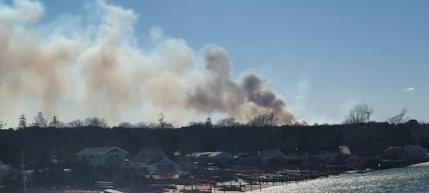
{"label": "entire brown and white smoke plume drifting left above the trees", "polygon": [[43,111],[117,124],[154,121],[163,111],[186,124],[213,114],[246,122],[274,112],[278,124],[298,122],[265,80],[252,72],[234,79],[222,47],[209,44],[195,56],[184,40],[153,27],[155,47],[144,50],[135,45],[132,10],[104,1],[94,9],[91,23],[65,17],[47,25],[39,21],[41,3],[0,5],[0,119]]}

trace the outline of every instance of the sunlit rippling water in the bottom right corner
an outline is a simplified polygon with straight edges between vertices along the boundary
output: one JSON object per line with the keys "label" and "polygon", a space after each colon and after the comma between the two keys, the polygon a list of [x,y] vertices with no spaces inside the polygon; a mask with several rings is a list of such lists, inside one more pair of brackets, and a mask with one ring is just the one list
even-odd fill
{"label": "sunlit rippling water in the bottom right corner", "polygon": [[429,192],[429,166],[342,174],[328,179],[289,183],[261,192]]}

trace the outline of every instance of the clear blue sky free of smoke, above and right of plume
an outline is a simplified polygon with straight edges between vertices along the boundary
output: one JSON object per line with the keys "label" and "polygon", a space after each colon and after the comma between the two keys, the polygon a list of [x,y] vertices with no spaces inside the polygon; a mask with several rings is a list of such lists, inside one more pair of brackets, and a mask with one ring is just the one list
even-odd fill
{"label": "clear blue sky free of smoke, above and right of plume", "polygon": [[[42,22],[91,4],[42,2]],[[374,109],[373,120],[406,107],[429,121],[429,1],[106,2],[137,14],[139,47],[153,46],[151,27],[195,53],[209,43],[223,47],[234,78],[254,71],[309,124],[338,124],[362,103]]]}

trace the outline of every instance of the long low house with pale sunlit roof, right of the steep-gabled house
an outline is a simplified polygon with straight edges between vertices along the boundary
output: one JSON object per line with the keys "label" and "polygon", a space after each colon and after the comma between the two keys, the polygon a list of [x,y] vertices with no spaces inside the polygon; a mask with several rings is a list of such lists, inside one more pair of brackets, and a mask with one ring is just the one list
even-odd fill
{"label": "long low house with pale sunlit roof, right of the steep-gabled house", "polygon": [[185,168],[198,170],[199,168],[217,168],[234,164],[234,157],[228,152],[194,152],[185,156]]}

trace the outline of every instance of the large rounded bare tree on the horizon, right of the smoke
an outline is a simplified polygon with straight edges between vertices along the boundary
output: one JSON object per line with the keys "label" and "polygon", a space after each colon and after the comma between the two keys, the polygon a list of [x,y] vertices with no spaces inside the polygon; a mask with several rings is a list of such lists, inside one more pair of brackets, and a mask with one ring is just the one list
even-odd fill
{"label": "large rounded bare tree on the horizon, right of the smoke", "polygon": [[351,108],[349,114],[344,116],[344,124],[359,124],[369,122],[369,117],[373,115],[374,110],[366,104],[356,104]]}

